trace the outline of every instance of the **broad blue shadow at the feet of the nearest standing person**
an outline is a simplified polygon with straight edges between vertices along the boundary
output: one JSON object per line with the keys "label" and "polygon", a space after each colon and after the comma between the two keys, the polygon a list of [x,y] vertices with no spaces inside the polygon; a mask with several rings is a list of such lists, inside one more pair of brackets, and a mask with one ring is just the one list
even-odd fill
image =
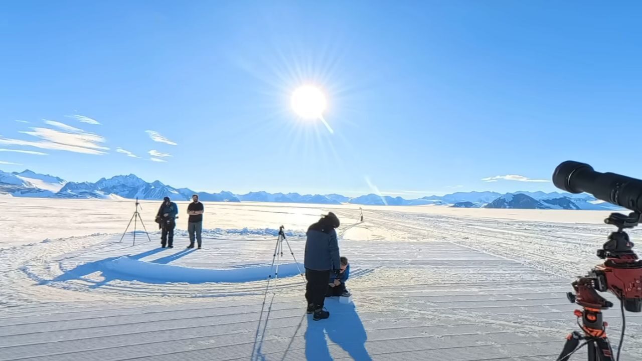
{"label": "broad blue shadow at the feet of the nearest standing person", "polygon": [[326,334],[328,339],[344,349],[353,360],[372,360],[365,348],[368,335],[354,303],[342,304],[335,299],[326,299],[325,304],[330,312],[329,319],[314,321],[311,315],[308,317],[306,360],[333,360],[325,339]]}

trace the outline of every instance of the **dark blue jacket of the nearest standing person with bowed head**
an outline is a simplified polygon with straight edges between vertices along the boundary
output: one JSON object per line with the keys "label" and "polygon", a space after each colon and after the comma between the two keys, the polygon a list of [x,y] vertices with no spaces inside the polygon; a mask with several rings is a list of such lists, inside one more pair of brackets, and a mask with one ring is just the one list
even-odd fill
{"label": "dark blue jacket of the nearest standing person with bowed head", "polygon": [[339,243],[336,240],[336,231],[326,227],[323,231],[308,229],[306,233],[306,256],[304,265],[311,270],[338,270]]}

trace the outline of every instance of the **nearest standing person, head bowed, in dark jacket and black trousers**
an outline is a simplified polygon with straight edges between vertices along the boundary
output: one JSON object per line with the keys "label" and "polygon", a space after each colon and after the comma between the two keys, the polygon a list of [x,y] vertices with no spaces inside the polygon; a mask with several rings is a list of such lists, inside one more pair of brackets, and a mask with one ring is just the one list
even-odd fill
{"label": "nearest standing person, head bowed, in dark jacket and black trousers", "polygon": [[329,212],[317,223],[310,225],[306,233],[306,301],[308,313],[314,313],[314,321],[330,317],[330,313],[325,311],[323,306],[330,272],[338,274],[341,267],[335,230],[339,225],[339,218]]}

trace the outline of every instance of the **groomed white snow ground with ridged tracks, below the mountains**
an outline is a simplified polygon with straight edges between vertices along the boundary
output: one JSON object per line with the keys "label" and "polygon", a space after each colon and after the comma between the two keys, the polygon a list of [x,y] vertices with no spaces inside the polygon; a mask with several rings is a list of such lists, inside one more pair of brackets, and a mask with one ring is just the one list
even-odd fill
{"label": "groomed white snow ground with ridged tracks, below the mountains", "polygon": [[[131,202],[0,198],[0,361],[555,360],[578,329],[571,279],[611,231],[598,211],[366,207],[358,223],[358,206],[207,203],[204,248],[185,248],[184,216],[161,249],[156,206],[141,211],[152,242],[134,245]],[[288,245],[302,262],[304,229],[330,210],[354,303],[327,299],[312,321]],[[627,314],[621,360],[642,360],[641,325]]]}

